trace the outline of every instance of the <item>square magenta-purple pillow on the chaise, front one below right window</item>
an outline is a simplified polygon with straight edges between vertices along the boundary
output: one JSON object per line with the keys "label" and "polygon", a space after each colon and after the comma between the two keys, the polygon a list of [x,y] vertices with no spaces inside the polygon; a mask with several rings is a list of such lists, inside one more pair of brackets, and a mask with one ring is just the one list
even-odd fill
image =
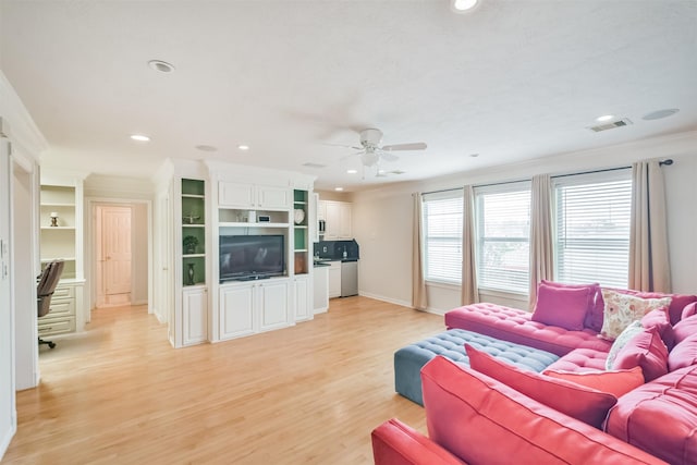
{"label": "square magenta-purple pillow on the chaise, front one below right window", "polygon": [[582,331],[589,296],[588,287],[554,287],[539,283],[531,319],[570,331]]}

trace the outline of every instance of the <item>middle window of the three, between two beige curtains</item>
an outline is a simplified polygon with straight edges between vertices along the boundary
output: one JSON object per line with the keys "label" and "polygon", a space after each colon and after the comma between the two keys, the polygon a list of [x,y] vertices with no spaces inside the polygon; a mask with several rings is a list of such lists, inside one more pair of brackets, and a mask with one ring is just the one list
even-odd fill
{"label": "middle window of the three, between two beige curtains", "polygon": [[475,188],[475,211],[479,287],[527,294],[530,183]]}

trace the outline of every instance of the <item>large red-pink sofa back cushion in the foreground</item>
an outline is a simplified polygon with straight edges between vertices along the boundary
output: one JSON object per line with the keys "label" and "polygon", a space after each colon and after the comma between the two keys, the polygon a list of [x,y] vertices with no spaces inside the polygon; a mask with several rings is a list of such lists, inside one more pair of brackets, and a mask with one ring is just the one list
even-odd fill
{"label": "large red-pink sofa back cushion in the foreground", "polygon": [[466,462],[662,463],[442,356],[424,366],[421,382],[430,439]]}

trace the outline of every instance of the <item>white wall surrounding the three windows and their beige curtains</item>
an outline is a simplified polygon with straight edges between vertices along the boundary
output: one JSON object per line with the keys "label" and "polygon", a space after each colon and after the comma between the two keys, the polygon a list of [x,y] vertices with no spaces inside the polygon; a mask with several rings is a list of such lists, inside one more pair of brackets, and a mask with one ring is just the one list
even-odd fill
{"label": "white wall surrounding the three windows and their beige curtains", "polygon": [[[411,304],[412,193],[628,166],[649,158],[672,158],[663,167],[673,292],[697,293],[697,132],[656,137],[583,152],[563,154],[525,163],[494,167],[425,182],[400,183],[353,195],[353,230],[360,244],[360,294]],[[460,304],[460,289],[428,287],[429,309],[447,311]],[[482,299],[525,308],[527,298],[487,295]],[[517,303],[517,305],[516,305]]]}

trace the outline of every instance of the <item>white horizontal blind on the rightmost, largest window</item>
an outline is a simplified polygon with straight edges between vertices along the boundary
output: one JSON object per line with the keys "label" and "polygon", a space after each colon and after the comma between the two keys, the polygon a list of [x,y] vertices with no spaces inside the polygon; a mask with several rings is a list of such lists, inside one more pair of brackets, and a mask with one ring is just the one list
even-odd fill
{"label": "white horizontal blind on the rightmost, largest window", "polygon": [[632,172],[553,180],[555,279],[625,289],[629,266]]}

